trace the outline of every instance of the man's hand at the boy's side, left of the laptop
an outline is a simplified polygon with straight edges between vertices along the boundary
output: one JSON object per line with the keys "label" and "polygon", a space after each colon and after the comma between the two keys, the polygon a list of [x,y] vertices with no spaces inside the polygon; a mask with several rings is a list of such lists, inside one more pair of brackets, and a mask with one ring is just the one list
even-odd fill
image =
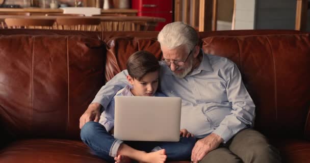
{"label": "man's hand at the boy's side, left of the laptop", "polygon": [[85,123],[89,121],[98,122],[100,119],[100,107],[99,103],[91,103],[87,110],[80,118],[80,129],[84,126]]}

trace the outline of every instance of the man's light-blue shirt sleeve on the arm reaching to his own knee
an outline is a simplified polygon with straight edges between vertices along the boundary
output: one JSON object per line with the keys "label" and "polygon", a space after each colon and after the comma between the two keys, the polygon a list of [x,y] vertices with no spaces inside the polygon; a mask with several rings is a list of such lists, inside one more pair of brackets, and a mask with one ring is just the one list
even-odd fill
{"label": "man's light-blue shirt sleeve on the arm reaching to his own knee", "polygon": [[253,127],[255,118],[255,105],[242,82],[238,67],[233,64],[226,72],[226,92],[232,110],[231,114],[227,115],[213,131],[224,140],[223,143],[240,130]]}

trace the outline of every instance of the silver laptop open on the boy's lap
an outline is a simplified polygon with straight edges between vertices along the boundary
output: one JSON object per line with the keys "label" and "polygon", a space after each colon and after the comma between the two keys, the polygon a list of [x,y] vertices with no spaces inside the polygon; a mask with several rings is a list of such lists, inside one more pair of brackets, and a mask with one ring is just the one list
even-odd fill
{"label": "silver laptop open on the boy's lap", "polygon": [[114,138],[178,142],[181,98],[116,96]]}

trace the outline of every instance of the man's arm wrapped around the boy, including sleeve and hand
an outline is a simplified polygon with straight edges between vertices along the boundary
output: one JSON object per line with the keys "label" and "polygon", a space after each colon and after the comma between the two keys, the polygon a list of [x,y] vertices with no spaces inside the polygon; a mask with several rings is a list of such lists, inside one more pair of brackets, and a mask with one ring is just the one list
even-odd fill
{"label": "man's arm wrapped around the boy, including sleeve and hand", "polygon": [[112,100],[117,91],[124,88],[128,84],[126,79],[127,74],[127,70],[123,70],[107,82],[105,86],[101,87],[94,100],[80,117],[80,129],[89,121],[99,121],[100,108],[107,108],[109,102]]}

